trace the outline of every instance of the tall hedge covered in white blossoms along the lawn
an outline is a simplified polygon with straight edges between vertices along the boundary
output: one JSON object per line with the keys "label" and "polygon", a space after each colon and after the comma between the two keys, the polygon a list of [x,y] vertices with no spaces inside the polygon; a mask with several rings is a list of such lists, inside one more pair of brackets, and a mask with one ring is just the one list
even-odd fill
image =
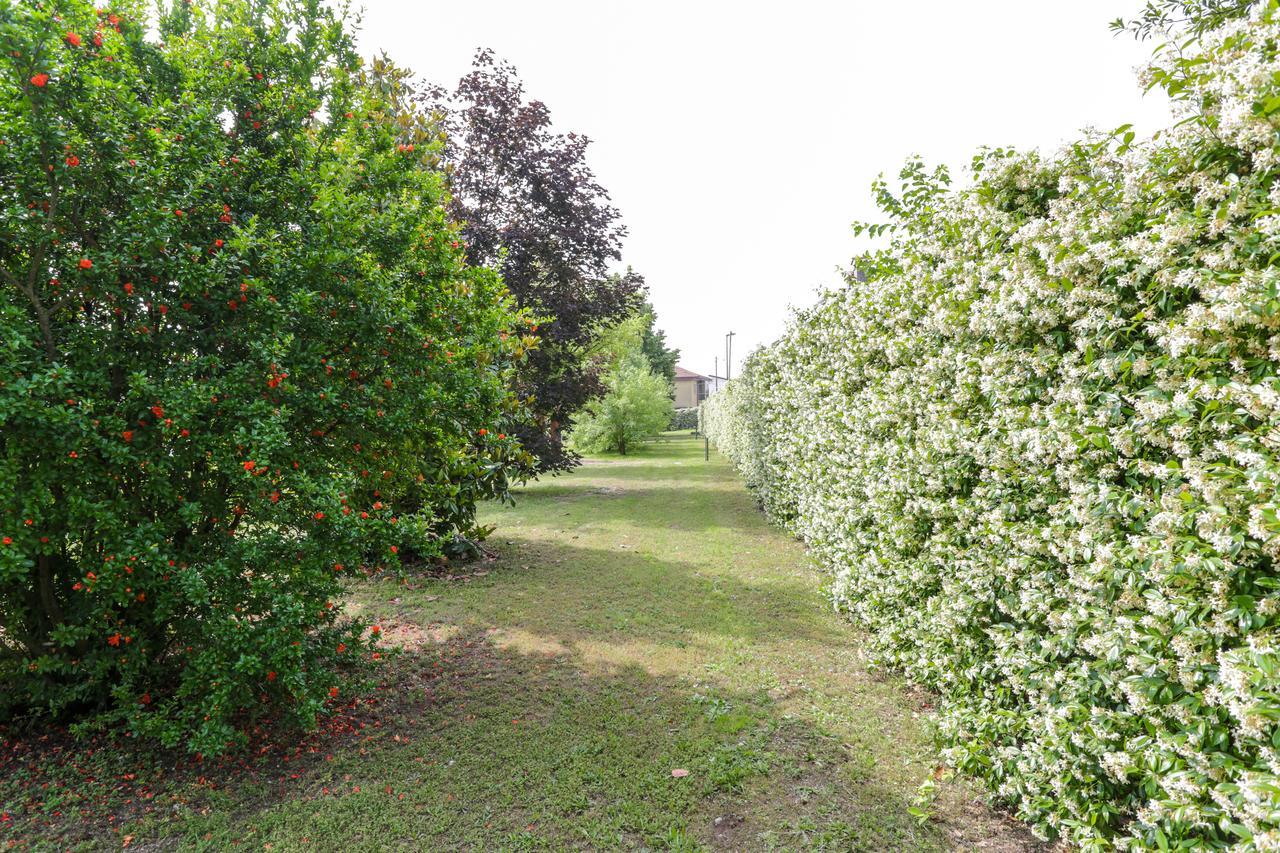
{"label": "tall hedge covered in white blossoms along the lawn", "polygon": [[1083,845],[1280,847],[1277,44],[1262,3],[1158,54],[1147,142],[909,164],[705,403],[946,758]]}

